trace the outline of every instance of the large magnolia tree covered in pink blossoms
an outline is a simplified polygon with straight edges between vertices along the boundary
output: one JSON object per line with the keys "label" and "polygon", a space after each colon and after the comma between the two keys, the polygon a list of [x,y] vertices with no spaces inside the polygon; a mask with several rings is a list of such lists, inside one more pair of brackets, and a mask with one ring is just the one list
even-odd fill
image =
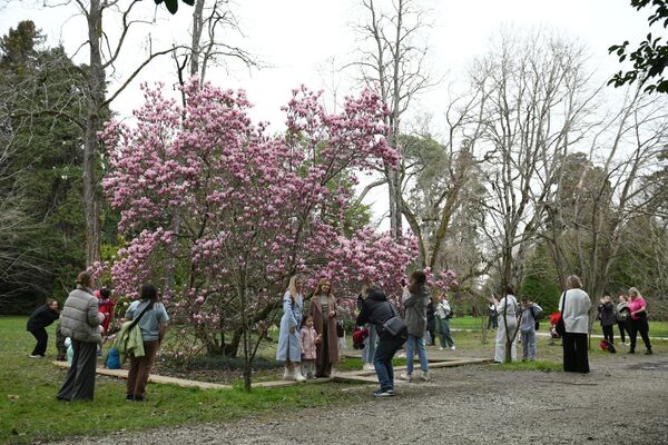
{"label": "large magnolia tree covered in pink blossoms", "polygon": [[160,284],[209,352],[235,355],[242,344],[252,360],[250,330],[271,324],[293,274],[331,277],[342,290],[404,274],[409,237],[342,235],[354,201],[343,179],[399,160],[377,96],[347,98],[331,115],[318,93],[294,90],[285,134],[271,136],[248,117],[243,91],[193,80],[180,107],[160,90],[144,86],[136,123],[102,134],[104,190],[126,240],[111,266],[117,294],[136,298],[141,283]]}

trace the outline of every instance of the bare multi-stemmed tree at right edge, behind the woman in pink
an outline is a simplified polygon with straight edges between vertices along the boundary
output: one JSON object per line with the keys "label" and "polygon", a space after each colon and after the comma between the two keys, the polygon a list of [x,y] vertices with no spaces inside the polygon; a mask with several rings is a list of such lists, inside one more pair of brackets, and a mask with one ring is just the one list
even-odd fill
{"label": "bare multi-stemmed tree at right edge, behind the woman in pink", "polygon": [[610,269],[635,219],[656,215],[650,174],[668,138],[662,97],[628,91],[617,112],[605,119],[592,138],[572,191],[568,220],[577,251],[577,269],[592,298],[602,296]]}

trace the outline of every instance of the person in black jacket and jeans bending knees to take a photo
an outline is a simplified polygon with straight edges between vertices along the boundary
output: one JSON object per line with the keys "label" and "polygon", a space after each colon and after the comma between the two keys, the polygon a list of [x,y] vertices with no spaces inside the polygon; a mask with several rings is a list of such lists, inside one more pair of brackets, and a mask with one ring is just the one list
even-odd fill
{"label": "person in black jacket and jeans bending knees to take a photo", "polygon": [[357,326],[369,323],[373,325],[379,335],[379,344],[373,357],[381,389],[376,390],[376,397],[394,396],[394,368],[392,358],[405,342],[405,336],[392,336],[383,329],[383,324],[394,317],[396,309],[387,300],[387,297],[377,287],[370,287],[369,297],[362,304],[362,309],[357,316]]}

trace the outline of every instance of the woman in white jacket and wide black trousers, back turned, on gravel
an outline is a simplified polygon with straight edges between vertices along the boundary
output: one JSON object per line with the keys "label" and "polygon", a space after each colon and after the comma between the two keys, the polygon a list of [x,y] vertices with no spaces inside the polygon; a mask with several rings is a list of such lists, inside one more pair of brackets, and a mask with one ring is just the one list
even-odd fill
{"label": "woman in white jacket and wide black trousers, back turned, on gravel", "polygon": [[567,373],[589,373],[587,335],[589,333],[589,308],[591,299],[582,290],[582,281],[577,275],[566,280],[566,290],[559,298],[559,310],[563,318],[566,334],[563,345],[563,370]]}

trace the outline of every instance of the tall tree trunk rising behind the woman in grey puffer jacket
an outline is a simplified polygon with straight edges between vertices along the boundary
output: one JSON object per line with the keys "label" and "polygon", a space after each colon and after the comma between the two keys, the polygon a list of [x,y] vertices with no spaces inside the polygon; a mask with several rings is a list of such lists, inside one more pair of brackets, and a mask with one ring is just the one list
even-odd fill
{"label": "tall tree trunk rising behind the woman in grey puffer jacket", "polygon": [[84,210],[86,215],[86,265],[100,260],[100,215],[97,194],[96,162],[98,132],[101,130],[101,103],[105,99],[105,70],[100,51],[102,8],[100,0],[91,0],[88,13],[88,43],[90,44],[89,99],[84,140]]}

